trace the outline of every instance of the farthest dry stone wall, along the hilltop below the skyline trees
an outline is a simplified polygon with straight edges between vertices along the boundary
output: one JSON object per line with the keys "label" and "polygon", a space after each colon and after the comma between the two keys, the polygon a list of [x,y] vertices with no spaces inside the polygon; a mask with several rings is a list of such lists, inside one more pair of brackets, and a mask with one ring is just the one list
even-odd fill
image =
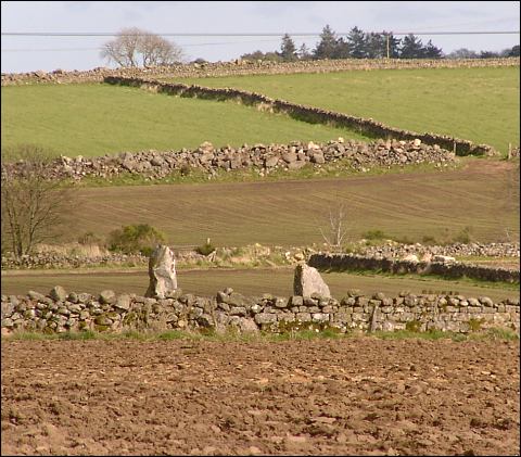
{"label": "farthest dry stone wall, along the hilltop below the skyline trees", "polygon": [[351,69],[402,69],[402,68],[460,68],[483,66],[517,66],[519,58],[507,59],[342,59],[304,62],[275,63],[267,61],[236,60],[231,62],[191,63],[157,67],[105,68],[89,71],[54,69],[53,72],[2,73],[1,85],[25,84],[78,84],[100,82],[106,76],[123,77],[215,77],[239,75],[279,75],[295,73],[330,73]]}

